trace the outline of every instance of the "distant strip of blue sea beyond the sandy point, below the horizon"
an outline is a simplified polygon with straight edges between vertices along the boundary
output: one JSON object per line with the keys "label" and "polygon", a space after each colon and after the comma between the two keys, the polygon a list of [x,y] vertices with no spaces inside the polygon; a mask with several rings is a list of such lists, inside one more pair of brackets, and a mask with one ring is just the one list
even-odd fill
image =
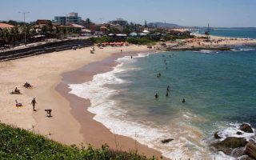
{"label": "distant strip of blue sea beyond the sandy point, below the horizon", "polygon": [[[197,30],[194,33],[204,34],[205,30]],[[210,30],[211,35],[230,38],[254,38],[256,39],[256,29],[218,29]]]}

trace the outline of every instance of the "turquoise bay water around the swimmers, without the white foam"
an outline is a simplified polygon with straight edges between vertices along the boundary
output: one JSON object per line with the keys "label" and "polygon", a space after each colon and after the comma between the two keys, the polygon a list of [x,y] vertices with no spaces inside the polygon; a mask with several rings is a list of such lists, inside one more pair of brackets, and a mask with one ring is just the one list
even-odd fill
{"label": "turquoise bay water around the swimmers, without the white foam", "polygon": [[[116,74],[130,83],[112,86],[126,90],[113,98],[121,101],[122,108],[130,110],[133,116],[166,125],[172,118],[189,112],[206,119],[193,124],[205,133],[215,130],[218,122],[256,125],[255,50],[151,54],[123,67],[138,70]],[[158,73],[161,78],[157,78]],[[168,85],[171,91],[166,97]],[[155,93],[159,94],[158,100]],[[182,98],[186,103],[182,103]]]}

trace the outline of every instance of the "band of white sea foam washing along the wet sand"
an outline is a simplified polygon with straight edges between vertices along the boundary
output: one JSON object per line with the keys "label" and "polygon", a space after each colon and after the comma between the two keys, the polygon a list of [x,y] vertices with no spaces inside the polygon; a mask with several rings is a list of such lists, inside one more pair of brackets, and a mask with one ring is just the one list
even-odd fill
{"label": "band of white sea foam washing along the wet sand", "polygon": [[[117,78],[115,74],[126,71],[122,68],[124,63],[135,62],[138,58],[147,55],[138,54],[133,59],[130,56],[118,58],[119,64],[114,67],[114,70],[104,74],[97,74],[90,82],[70,84],[70,94],[75,94],[81,98],[89,98],[91,106],[88,110],[95,114],[94,120],[101,122],[112,133],[134,138],[150,148],[161,151],[163,156],[167,158],[198,159],[203,154],[209,154],[204,147],[205,145],[198,142],[200,138],[191,131],[194,130],[191,126],[186,126],[185,124],[180,124],[179,126],[176,124],[182,122],[183,119],[174,119],[174,122],[170,123],[170,127],[156,126],[152,122],[143,122],[130,117],[130,115],[126,114],[126,110],[118,107],[121,102],[114,101],[111,98],[117,95],[120,90],[110,89],[106,87],[106,84],[126,83],[126,81]],[[186,112],[183,118],[187,120],[193,118],[193,116],[193,114]],[[187,130],[184,130],[185,126]],[[166,138],[174,138],[174,141],[163,144],[161,140]],[[211,158],[209,155],[207,157]]]}

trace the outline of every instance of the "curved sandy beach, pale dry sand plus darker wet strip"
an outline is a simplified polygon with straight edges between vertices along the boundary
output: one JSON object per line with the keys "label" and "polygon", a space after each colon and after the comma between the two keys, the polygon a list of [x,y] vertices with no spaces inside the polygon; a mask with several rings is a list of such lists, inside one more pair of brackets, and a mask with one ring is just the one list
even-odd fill
{"label": "curved sandy beach, pale dry sand plus darker wet strip", "polygon": [[[1,62],[0,120],[67,145],[90,143],[100,147],[107,143],[113,149],[138,149],[141,154],[159,157],[158,151],[131,138],[114,135],[101,123],[95,122],[92,119],[94,115],[86,111],[90,100],[68,94],[66,86],[69,82],[86,82],[94,74],[111,70],[116,65],[114,59],[119,56],[149,51],[146,46],[122,46],[96,48],[95,54],[90,54],[88,47]],[[90,63],[90,66],[85,66]],[[87,69],[82,69],[82,66]],[[23,87],[25,82],[33,88]],[[10,94],[16,86],[22,94]],[[37,111],[33,111],[30,104],[33,98],[37,101]],[[22,103],[21,108],[15,107],[15,99]],[[46,117],[46,109],[52,110],[53,117]]]}

